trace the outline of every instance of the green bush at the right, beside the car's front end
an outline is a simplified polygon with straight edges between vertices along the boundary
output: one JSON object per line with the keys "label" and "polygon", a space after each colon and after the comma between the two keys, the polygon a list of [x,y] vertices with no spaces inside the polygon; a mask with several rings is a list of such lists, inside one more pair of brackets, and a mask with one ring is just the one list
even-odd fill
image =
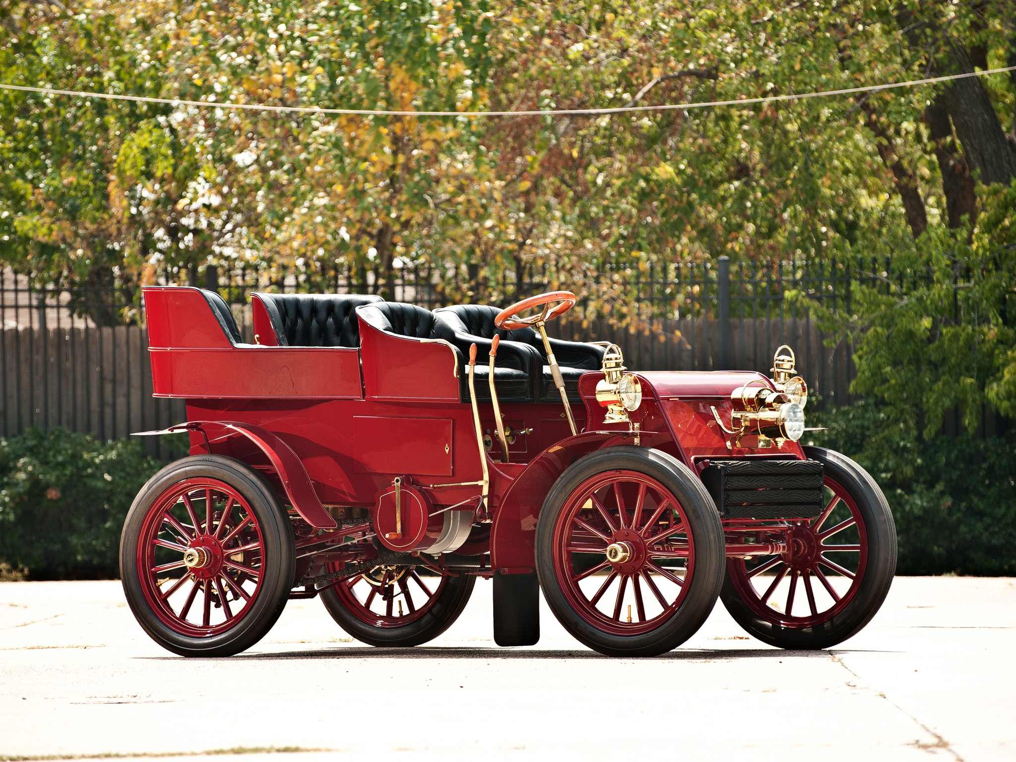
{"label": "green bush at the right, beside the car's front end", "polygon": [[874,403],[810,417],[809,439],[856,460],[896,519],[899,574],[1016,574],[1016,437],[922,440]]}

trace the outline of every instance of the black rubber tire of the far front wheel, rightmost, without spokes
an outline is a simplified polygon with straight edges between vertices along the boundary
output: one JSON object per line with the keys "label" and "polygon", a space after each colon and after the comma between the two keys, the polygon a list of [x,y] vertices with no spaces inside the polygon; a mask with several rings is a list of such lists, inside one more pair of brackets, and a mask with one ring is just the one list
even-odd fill
{"label": "black rubber tire of the far front wheel, rightmost, without spokes", "polygon": [[825,472],[853,498],[868,534],[865,576],[853,598],[841,612],[816,627],[789,628],[768,622],[742,600],[729,575],[720,599],[745,632],[763,643],[797,650],[829,648],[856,635],[871,622],[892,585],[896,573],[896,524],[882,490],[864,468],[845,455],[824,447],[805,447],[805,455],[819,460]]}

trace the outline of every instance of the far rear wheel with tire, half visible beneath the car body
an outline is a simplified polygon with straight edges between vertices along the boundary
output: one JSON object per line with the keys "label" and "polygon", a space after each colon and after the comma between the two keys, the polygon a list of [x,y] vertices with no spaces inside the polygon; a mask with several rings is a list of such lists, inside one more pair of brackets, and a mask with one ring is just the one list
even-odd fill
{"label": "far rear wheel with tire, half visible beneath the car body", "polygon": [[[330,571],[339,569],[329,564]],[[321,599],[350,635],[379,646],[433,640],[462,613],[475,577],[438,576],[423,566],[377,566],[328,589]]]}

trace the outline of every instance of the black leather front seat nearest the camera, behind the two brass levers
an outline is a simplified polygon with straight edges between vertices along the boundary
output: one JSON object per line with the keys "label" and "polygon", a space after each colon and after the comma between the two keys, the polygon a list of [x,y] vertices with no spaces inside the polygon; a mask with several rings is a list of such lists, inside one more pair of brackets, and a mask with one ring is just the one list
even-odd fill
{"label": "black leather front seat nearest the camera, behind the two brass levers", "polygon": [[[466,336],[456,331],[447,320],[440,319],[430,310],[401,302],[382,302],[357,310],[365,323],[375,328],[410,338],[440,338],[448,341],[456,351],[459,365],[459,395],[463,402],[469,401],[468,369],[469,344],[477,344],[477,370],[474,386],[477,398],[490,401],[490,385],[487,381],[490,362],[490,339]],[[494,369],[494,385],[498,398],[504,401],[532,401],[534,388],[529,373],[525,370],[530,358],[529,347],[501,344],[498,350],[498,367]]]}

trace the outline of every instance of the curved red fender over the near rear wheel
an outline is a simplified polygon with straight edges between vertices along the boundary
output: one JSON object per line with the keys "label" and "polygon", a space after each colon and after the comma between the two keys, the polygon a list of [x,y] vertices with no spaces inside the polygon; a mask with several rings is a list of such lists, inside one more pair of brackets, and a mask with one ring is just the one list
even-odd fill
{"label": "curved red fender over the near rear wheel", "polygon": [[[278,479],[285,489],[290,503],[307,523],[316,529],[334,529],[338,526],[335,519],[321,505],[321,499],[314,492],[314,486],[311,484],[310,477],[307,475],[307,469],[300,462],[297,453],[285,442],[260,426],[242,424],[236,421],[189,421],[179,426],[171,426],[165,431],[142,433],[168,434],[181,430],[199,431],[204,435],[207,444],[209,433],[215,432],[216,429],[223,430],[226,436],[240,434],[257,445],[278,473]],[[210,452],[211,448],[208,447],[208,450]]]}

